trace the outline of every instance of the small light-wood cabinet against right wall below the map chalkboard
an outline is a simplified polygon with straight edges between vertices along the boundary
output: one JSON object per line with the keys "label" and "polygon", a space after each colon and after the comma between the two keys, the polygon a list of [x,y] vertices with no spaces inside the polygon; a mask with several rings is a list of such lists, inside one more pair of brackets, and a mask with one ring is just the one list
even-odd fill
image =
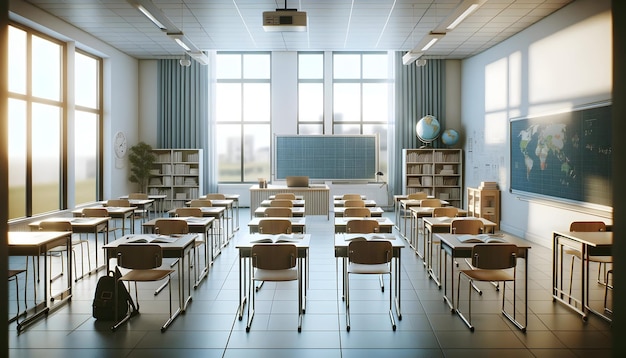
{"label": "small light-wood cabinet against right wall below the map chalkboard", "polygon": [[478,188],[467,188],[467,216],[485,218],[500,230],[500,190],[494,182],[482,182]]}

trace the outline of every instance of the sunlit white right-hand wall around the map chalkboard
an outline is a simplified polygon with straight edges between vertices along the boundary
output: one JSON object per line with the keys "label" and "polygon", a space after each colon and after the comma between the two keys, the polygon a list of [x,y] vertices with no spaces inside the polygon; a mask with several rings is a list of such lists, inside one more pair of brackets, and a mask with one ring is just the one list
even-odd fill
{"label": "sunlit white right-hand wall around the map chalkboard", "polygon": [[465,184],[496,181],[501,228],[544,246],[573,220],[609,212],[520,200],[509,193],[509,119],[611,99],[610,0],[579,0],[462,65]]}

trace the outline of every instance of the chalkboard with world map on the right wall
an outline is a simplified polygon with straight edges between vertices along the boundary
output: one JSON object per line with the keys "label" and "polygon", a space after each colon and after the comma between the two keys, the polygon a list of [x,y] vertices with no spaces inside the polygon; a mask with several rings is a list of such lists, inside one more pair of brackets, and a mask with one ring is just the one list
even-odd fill
{"label": "chalkboard with world map on the right wall", "polygon": [[611,107],[511,121],[511,189],[612,206]]}

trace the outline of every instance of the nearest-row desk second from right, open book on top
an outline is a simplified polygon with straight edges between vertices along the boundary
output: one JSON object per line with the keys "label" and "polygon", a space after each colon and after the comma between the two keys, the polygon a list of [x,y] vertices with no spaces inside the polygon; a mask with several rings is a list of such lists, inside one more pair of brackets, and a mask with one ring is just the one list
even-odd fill
{"label": "nearest-row desk second from right, open book on top", "polygon": [[[441,250],[446,254],[444,257],[444,273],[443,273],[443,299],[446,301],[450,309],[454,312],[456,311],[456,306],[454,305],[454,267],[456,264],[454,263],[456,259],[459,258],[471,258],[472,256],[472,248],[475,245],[474,243],[462,243],[459,241],[457,237],[462,236],[464,234],[435,234],[439,241],[441,242]],[[508,313],[503,312],[503,314],[522,331],[526,330],[526,326],[528,324],[528,250],[530,250],[531,245],[530,242],[526,240],[522,240],[518,237],[503,234],[504,239],[507,243],[517,245],[517,259],[524,259],[524,324],[519,323],[515,316],[511,317]],[[448,273],[446,264],[448,261],[448,256],[450,257],[450,292],[452,293],[450,297],[448,297]],[[468,289],[472,289],[469,287]],[[513,293],[512,297],[516,297],[515,293]],[[460,317],[460,316],[459,316]]]}

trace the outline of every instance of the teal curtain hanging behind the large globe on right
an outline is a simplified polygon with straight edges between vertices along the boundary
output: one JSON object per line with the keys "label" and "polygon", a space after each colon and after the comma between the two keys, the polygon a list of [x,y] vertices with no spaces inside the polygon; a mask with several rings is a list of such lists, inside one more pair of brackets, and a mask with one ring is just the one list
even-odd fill
{"label": "teal curtain hanging behind the large globe on right", "polygon": [[[428,60],[425,66],[402,63],[403,52],[395,53],[395,150],[391,158],[390,182],[394,193],[402,193],[402,149],[426,145],[415,133],[415,125],[427,114],[445,128],[445,61]],[[440,147],[437,139],[428,144]]]}

